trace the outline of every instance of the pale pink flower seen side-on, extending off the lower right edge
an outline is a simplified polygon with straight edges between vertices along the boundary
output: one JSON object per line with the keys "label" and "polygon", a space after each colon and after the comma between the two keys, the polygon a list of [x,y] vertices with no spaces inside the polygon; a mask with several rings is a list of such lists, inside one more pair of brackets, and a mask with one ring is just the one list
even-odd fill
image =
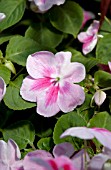
{"label": "pale pink flower seen side-on, extending off the lower right edge", "polygon": [[72,127],[67,129],[62,135],[78,137],[80,139],[96,138],[103,146],[111,149],[111,132],[104,128]]}

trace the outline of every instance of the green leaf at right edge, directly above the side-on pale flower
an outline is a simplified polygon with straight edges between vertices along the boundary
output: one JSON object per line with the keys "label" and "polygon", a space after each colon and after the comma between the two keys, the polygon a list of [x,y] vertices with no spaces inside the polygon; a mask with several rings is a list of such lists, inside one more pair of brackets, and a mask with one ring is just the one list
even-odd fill
{"label": "green leaf at right edge, directly above the side-on pale flower", "polygon": [[111,131],[111,115],[108,112],[99,112],[90,119],[88,126],[105,128]]}

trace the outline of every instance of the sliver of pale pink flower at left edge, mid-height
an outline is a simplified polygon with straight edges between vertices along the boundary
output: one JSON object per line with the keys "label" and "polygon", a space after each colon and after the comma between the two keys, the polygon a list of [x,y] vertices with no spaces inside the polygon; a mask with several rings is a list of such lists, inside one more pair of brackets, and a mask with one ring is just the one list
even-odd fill
{"label": "sliver of pale pink flower at left edge, mid-height", "polygon": [[0,77],[0,101],[3,99],[6,93],[6,84],[2,77]]}

